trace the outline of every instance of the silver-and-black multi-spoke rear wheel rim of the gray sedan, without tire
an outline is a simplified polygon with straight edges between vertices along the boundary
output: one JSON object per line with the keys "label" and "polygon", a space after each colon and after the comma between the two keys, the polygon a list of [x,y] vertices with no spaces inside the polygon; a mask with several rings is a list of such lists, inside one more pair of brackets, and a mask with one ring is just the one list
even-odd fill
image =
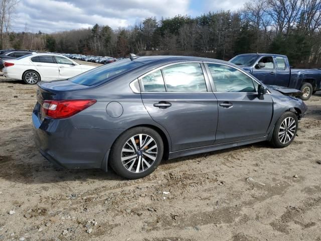
{"label": "silver-and-black multi-spoke rear wheel rim of the gray sedan, without tire", "polygon": [[146,171],[156,160],[157,151],[157,143],[151,136],[137,134],[129,138],[121,150],[122,165],[129,172]]}

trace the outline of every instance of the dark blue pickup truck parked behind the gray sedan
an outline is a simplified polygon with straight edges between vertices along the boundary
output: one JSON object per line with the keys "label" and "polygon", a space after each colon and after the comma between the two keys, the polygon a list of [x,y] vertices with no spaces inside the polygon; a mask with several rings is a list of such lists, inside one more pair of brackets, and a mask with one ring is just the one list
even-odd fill
{"label": "dark blue pickup truck parked behind the gray sedan", "polygon": [[321,90],[321,70],[293,69],[285,55],[240,54],[230,60],[266,85],[279,85],[302,91],[301,99]]}

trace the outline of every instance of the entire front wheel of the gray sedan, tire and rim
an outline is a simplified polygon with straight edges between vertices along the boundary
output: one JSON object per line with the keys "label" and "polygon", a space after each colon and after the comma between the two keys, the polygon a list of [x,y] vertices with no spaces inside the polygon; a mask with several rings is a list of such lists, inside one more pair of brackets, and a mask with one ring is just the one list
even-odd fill
{"label": "entire front wheel of the gray sedan, tire and rim", "polygon": [[284,112],[277,120],[270,143],[276,148],[283,148],[290,145],[297,132],[298,121],[295,113]]}

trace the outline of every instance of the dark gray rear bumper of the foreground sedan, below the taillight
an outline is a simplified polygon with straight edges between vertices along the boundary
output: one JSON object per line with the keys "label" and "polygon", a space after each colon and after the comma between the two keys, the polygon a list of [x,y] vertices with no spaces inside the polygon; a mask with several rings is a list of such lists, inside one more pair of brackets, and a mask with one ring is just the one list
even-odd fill
{"label": "dark gray rear bumper of the foreground sedan, below the taillight", "polygon": [[109,150],[122,129],[76,129],[70,119],[32,114],[34,140],[40,153],[51,163],[70,169],[101,168],[107,171]]}

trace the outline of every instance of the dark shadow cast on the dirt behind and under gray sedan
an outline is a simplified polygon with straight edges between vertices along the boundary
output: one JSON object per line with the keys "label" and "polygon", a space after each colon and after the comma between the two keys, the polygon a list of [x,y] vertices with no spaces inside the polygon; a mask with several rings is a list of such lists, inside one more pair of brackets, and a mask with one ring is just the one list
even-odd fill
{"label": "dark shadow cast on the dirt behind and under gray sedan", "polygon": [[[108,172],[105,173],[101,169],[69,170],[51,164],[39,153],[33,142],[32,125],[24,125],[14,130],[1,131],[0,135],[4,137],[0,141],[0,164],[2,165],[0,178],[8,181],[30,184],[59,183],[65,181],[85,182],[88,180],[127,181],[127,179],[118,176],[110,167],[108,167]],[[233,153],[235,150],[246,149],[249,146],[254,146],[255,148],[270,148],[267,143],[256,143],[172,160],[163,160],[160,165],[169,165],[171,163],[184,162],[196,158],[206,158],[222,153]],[[157,170],[155,172],[157,172]]]}

